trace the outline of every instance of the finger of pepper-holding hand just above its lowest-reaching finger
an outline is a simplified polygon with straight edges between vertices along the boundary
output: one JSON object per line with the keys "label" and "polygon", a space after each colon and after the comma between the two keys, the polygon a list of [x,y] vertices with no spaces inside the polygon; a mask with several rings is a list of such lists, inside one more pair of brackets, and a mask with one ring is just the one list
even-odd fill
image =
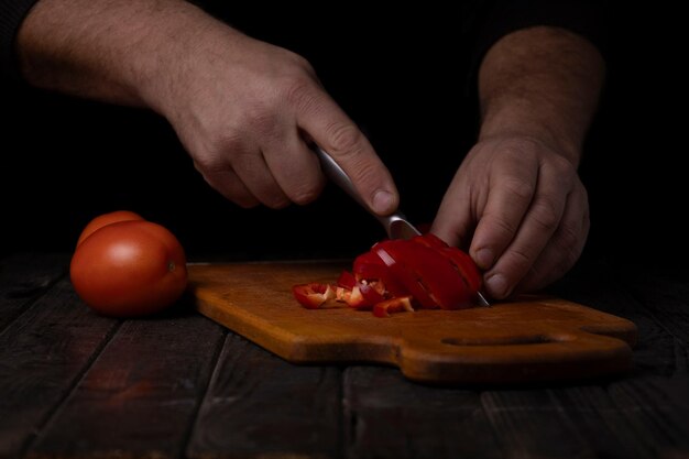
{"label": "finger of pepper-holding hand just above its lowest-reaching finger", "polygon": [[477,225],[469,253],[489,270],[512,243],[538,187],[533,163],[503,161],[489,177],[485,207]]}

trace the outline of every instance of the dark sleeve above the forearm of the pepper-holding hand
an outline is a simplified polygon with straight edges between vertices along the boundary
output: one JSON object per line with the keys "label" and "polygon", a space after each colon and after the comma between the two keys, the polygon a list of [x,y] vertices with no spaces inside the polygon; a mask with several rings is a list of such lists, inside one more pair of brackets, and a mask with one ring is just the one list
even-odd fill
{"label": "dark sleeve above the forearm of the pepper-holding hand", "polygon": [[567,29],[593,43],[603,57],[608,53],[610,21],[605,0],[473,0],[469,3],[471,8],[462,29],[470,47],[473,77],[488,50],[502,36],[537,25]]}

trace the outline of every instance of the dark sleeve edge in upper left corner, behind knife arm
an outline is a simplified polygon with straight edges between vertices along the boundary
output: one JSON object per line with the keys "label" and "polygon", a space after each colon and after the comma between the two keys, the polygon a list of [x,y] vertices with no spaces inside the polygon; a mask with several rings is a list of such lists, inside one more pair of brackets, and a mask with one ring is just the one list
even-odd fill
{"label": "dark sleeve edge in upper left corner, behind knife arm", "polygon": [[20,79],[14,39],[29,10],[39,0],[0,1],[0,78]]}

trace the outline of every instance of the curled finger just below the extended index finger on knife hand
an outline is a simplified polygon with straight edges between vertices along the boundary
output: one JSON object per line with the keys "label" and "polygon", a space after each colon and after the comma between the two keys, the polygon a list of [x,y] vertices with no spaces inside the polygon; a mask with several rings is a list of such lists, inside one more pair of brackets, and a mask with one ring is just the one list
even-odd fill
{"label": "curled finger just below the extended index finger on knife hand", "polygon": [[325,186],[318,157],[299,135],[296,125],[280,141],[267,141],[263,157],[284,194],[297,204],[315,200]]}

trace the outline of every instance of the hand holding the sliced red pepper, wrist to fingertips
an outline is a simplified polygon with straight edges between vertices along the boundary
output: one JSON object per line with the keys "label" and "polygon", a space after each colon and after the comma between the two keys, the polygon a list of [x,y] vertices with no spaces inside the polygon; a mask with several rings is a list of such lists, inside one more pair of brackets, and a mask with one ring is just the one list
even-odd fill
{"label": "hand holding the sliced red pepper, wrist to fingertips", "polygon": [[469,152],[431,231],[469,247],[486,293],[500,299],[561,277],[589,226],[588,195],[568,160],[535,138],[494,136]]}

